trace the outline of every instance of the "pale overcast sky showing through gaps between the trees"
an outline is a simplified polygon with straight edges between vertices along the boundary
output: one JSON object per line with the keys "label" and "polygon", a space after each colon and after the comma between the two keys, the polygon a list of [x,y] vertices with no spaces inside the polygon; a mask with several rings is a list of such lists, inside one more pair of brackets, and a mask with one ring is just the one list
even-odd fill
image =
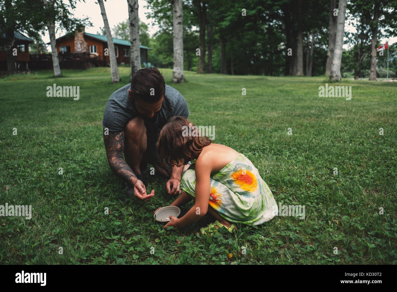
{"label": "pale overcast sky showing through gaps between the trees", "polygon": [[[93,33],[93,34],[96,34],[97,31],[100,31],[100,27],[104,26],[102,15],[100,14],[99,4],[95,2],[96,2],[95,0],[86,0],[85,2],[77,2],[76,5],[77,7],[74,12],[74,16],[77,18],[85,18],[85,17],[90,18],[90,21],[93,23],[93,27],[86,27],[85,31],[87,33]],[[106,10],[106,16],[108,17],[108,21],[111,29],[119,22],[128,19],[127,0],[108,0],[104,2],[104,5]],[[152,25],[150,25],[152,20],[146,18],[146,13],[151,11],[144,7],[147,5],[146,1],[138,0],[138,5],[139,5],[139,9],[138,9],[139,18],[141,19],[141,21],[148,24],[149,35],[152,36],[156,31],[159,30],[159,27],[157,25],[152,27]],[[351,25],[348,25],[348,23],[346,22],[345,31],[354,32],[355,28]],[[58,32],[56,33],[56,37],[58,38],[65,34],[66,31],[58,30]],[[42,39],[44,43],[50,42],[50,36],[48,35],[48,31],[45,32],[45,35],[42,37]],[[387,41],[387,39],[380,39],[380,41],[382,44],[384,44]],[[397,42],[397,37],[393,37],[389,39],[389,44],[393,44],[395,42]],[[147,45],[147,44],[143,44],[143,45]],[[347,49],[348,47],[349,46],[347,44],[343,45],[343,48],[345,49]],[[47,49],[51,51],[51,46],[48,45]]]}

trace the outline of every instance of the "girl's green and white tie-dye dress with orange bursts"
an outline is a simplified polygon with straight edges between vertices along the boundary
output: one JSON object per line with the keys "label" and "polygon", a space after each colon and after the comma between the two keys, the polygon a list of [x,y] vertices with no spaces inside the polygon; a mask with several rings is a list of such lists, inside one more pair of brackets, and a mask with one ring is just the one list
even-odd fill
{"label": "girl's green and white tie-dye dress with orange bursts", "polygon": [[[212,173],[210,181],[209,205],[226,220],[259,225],[275,216],[277,204],[272,191],[243,154]],[[189,168],[183,173],[180,189],[195,196],[194,169]]]}

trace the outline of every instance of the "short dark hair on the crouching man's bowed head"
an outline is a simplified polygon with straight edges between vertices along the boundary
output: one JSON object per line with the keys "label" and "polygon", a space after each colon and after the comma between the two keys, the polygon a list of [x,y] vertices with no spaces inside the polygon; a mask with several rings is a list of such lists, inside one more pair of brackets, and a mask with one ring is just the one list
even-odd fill
{"label": "short dark hair on the crouching man's bowed head", "polygon": [[164,77],[157,68],[140,69],[132,76],[131,92],[133,97],[139,101],[158,102],[166,92]]}

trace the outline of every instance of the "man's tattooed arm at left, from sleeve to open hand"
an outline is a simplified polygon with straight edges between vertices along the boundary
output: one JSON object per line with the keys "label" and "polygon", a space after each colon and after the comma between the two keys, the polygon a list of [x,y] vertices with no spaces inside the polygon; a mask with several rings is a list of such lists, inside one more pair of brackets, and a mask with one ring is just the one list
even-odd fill
{"label": "man's tattooed arm at left, from sleeve to open hand", "polygon": [[109,132],[109,135],[103,135],[103,141],[106,149],[110,169],[122,180],[134,186],[134,195],[143,201],[148,201],[154,196],[154,190],[146,194],[146,188],[142,181],[138,180],[127,162],[123,158],[124,151],[124,131]]}

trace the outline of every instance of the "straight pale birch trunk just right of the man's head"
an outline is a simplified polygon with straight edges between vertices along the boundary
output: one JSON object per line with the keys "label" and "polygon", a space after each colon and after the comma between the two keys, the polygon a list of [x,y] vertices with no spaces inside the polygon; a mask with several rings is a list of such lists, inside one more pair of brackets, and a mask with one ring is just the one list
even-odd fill
{"label": "straight pale birch trunk just right of the man's head", "polygon": [[181,83],[185,81],[183,74],[183,17],[182,0],[172,0],[173,11],[173,71],[172,82]]}

